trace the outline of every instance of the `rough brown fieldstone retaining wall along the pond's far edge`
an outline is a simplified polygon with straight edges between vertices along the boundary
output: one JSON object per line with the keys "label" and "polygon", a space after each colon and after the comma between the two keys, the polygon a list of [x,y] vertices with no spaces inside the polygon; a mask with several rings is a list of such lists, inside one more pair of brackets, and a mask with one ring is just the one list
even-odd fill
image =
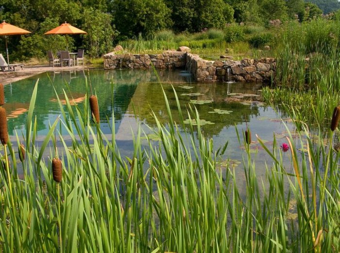
{"label": "rough brown fieldstone retaining wall along the pond's far edge", "polygon": [[185,68],[199,82],[270,81],[275,75],[276,61],[273,58],[241,61],[207,61],[187,52],[165,51],[162,54],[114,54],[104,55],[104,69]]}

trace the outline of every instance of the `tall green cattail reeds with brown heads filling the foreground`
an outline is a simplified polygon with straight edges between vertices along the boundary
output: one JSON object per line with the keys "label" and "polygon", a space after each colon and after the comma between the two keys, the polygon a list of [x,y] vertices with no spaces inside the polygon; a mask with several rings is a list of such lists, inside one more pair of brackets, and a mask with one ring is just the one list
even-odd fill
{"label": "tall green cattail reeds with brown heads filling the foreground", "polygon": [[[301,122],[296,124],[298,138],[293,138],[287,127],[282,146],[274,137],[272,147],[267,147],[253,132],[253,139],[272,158],[266,162],[265,177],[256,176],[251,125],[246,132],[239,132],[236,126],[239,143],[245,147],[246,195],[241,197],[235,167],[220,165],[222,155],[228,153],[227,140],[215,147],[201,132],[195,108],[188,108],[186,125],[178,100],[180,122],[174,123],[165,93],[169,122],[162,125],[153,114],[157,124],[153,133],[159,141],[144,136],[139,128],[133,137],[132,157],[120,156],[114,124],[111,140],[102,134],[87,82],[84,107],[69,102],[65,107],[59,102],[61,117],[51,123],[45,140],[37,146],[32,116],[38,83],[26,132],[17,135],[18,151],[8,141],[1,152],[2,252],[339,249],[340,153],[332,148],[339,142],[338,109],[333,113],[334,132],[328,124],[326,143],[320,135],[314,136],[315,129]],[[0,117],[2,127],[4,120]],[[59,133],[59,124],[67,127],[71,146]],[[186,129],[185,135],[180,134],[178,125]],[[3,136],[2,131],[0,138]],[[146,145],[141,144],[142,138]],[[295,142],[306,146],[306,151],[300,152]],[[62,148],[56,149],[57,145]],[[50,154],[47,159],[43,158],[45,152]],[[285,155],[290,156],[290,165],[283,162]],[[17,174],[19,163],[23,179]]]}

